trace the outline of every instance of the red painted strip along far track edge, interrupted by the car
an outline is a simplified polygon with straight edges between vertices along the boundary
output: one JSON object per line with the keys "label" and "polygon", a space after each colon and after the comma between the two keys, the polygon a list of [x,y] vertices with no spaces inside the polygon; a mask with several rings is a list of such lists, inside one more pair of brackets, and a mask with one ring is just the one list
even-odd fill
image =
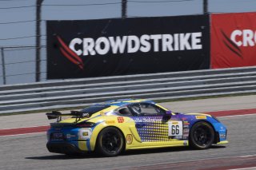
{"label": "red painted strip along far track edge, interrupted by the car", "polygon": [[[256,114],[256,109],[226,110],[226,111],[208,112],[206,114],[210,114],[214,117],[226,117],[226,116],[245,115],[245,114],[254,114],[254,113]],[[48,130],[49,128],[50,126],[46,125],[46,126],[28,127],[28,128],[0,129],[0,136],[46,132],[46,130]]]}

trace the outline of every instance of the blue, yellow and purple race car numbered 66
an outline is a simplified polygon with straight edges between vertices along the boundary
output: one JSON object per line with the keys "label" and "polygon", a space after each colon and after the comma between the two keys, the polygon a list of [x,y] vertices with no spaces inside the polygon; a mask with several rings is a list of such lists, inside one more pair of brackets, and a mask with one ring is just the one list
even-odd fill
{"label": "blue, yellow and purple race car numbered 66", "polygon": [[81,111],[46,115],[57,118],[50,124],[46,147],[66,155],[95,151],[117,156],[130,149],[188,145],[205,149],[228,143],[227,129],[217,118],[203,113],[173,113],[148,100],[106,101]]}

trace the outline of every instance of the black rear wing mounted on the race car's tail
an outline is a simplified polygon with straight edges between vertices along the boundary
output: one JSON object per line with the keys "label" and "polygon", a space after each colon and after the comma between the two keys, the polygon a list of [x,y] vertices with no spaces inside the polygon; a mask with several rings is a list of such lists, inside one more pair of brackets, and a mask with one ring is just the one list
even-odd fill
{"label": "black rear wing mounted on the race car's tail", "polygon": [[82,113],[79,111],[70,111],[70,113],[61,113],[58,111],[52,111],[51,113],[46,113],[48,120],[57,119],[57,122],[62,121],[62,117],[74,117],[75,123],[80,121],[82,118],[90,117],[90,113]]}

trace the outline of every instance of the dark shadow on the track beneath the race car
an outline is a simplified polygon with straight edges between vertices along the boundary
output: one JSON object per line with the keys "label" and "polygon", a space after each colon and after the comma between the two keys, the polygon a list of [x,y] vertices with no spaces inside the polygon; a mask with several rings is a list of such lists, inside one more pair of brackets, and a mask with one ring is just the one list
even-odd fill
{"label": "dark shadow on the track beneath the race car", "polygon": [[[210,149],[226,148],[223,145],[212,145]],[[184,151],[196,150],[194,148],[186,147],[169,147],[169,148],[147,148],[141,150],[128,150],[123,152],[120,156],[131,156],[131,155],[142,155],[142,154],[152,154],[152,153],[161,153],[161,152],[184,152]],[[84,153],[78,156],[66,156],[66,155],[50,155],[50,156],[31,156],[26,157],[25,159],[29,160],[74,160],[74,159],[89,159],[89,158],[102,158],[104,156],[99,156],[94,152]]]}

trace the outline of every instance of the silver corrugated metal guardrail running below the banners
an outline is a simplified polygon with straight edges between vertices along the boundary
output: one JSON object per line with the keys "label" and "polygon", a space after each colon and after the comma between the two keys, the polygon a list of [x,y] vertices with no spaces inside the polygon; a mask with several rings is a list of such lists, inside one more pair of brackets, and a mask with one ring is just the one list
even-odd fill
{"label": "silver corrugated metal guardrail running below the banners", "polygon": [[0,86],[0,113],[63,109],[118,98],[181,99],[256,92],[256,67]]}

